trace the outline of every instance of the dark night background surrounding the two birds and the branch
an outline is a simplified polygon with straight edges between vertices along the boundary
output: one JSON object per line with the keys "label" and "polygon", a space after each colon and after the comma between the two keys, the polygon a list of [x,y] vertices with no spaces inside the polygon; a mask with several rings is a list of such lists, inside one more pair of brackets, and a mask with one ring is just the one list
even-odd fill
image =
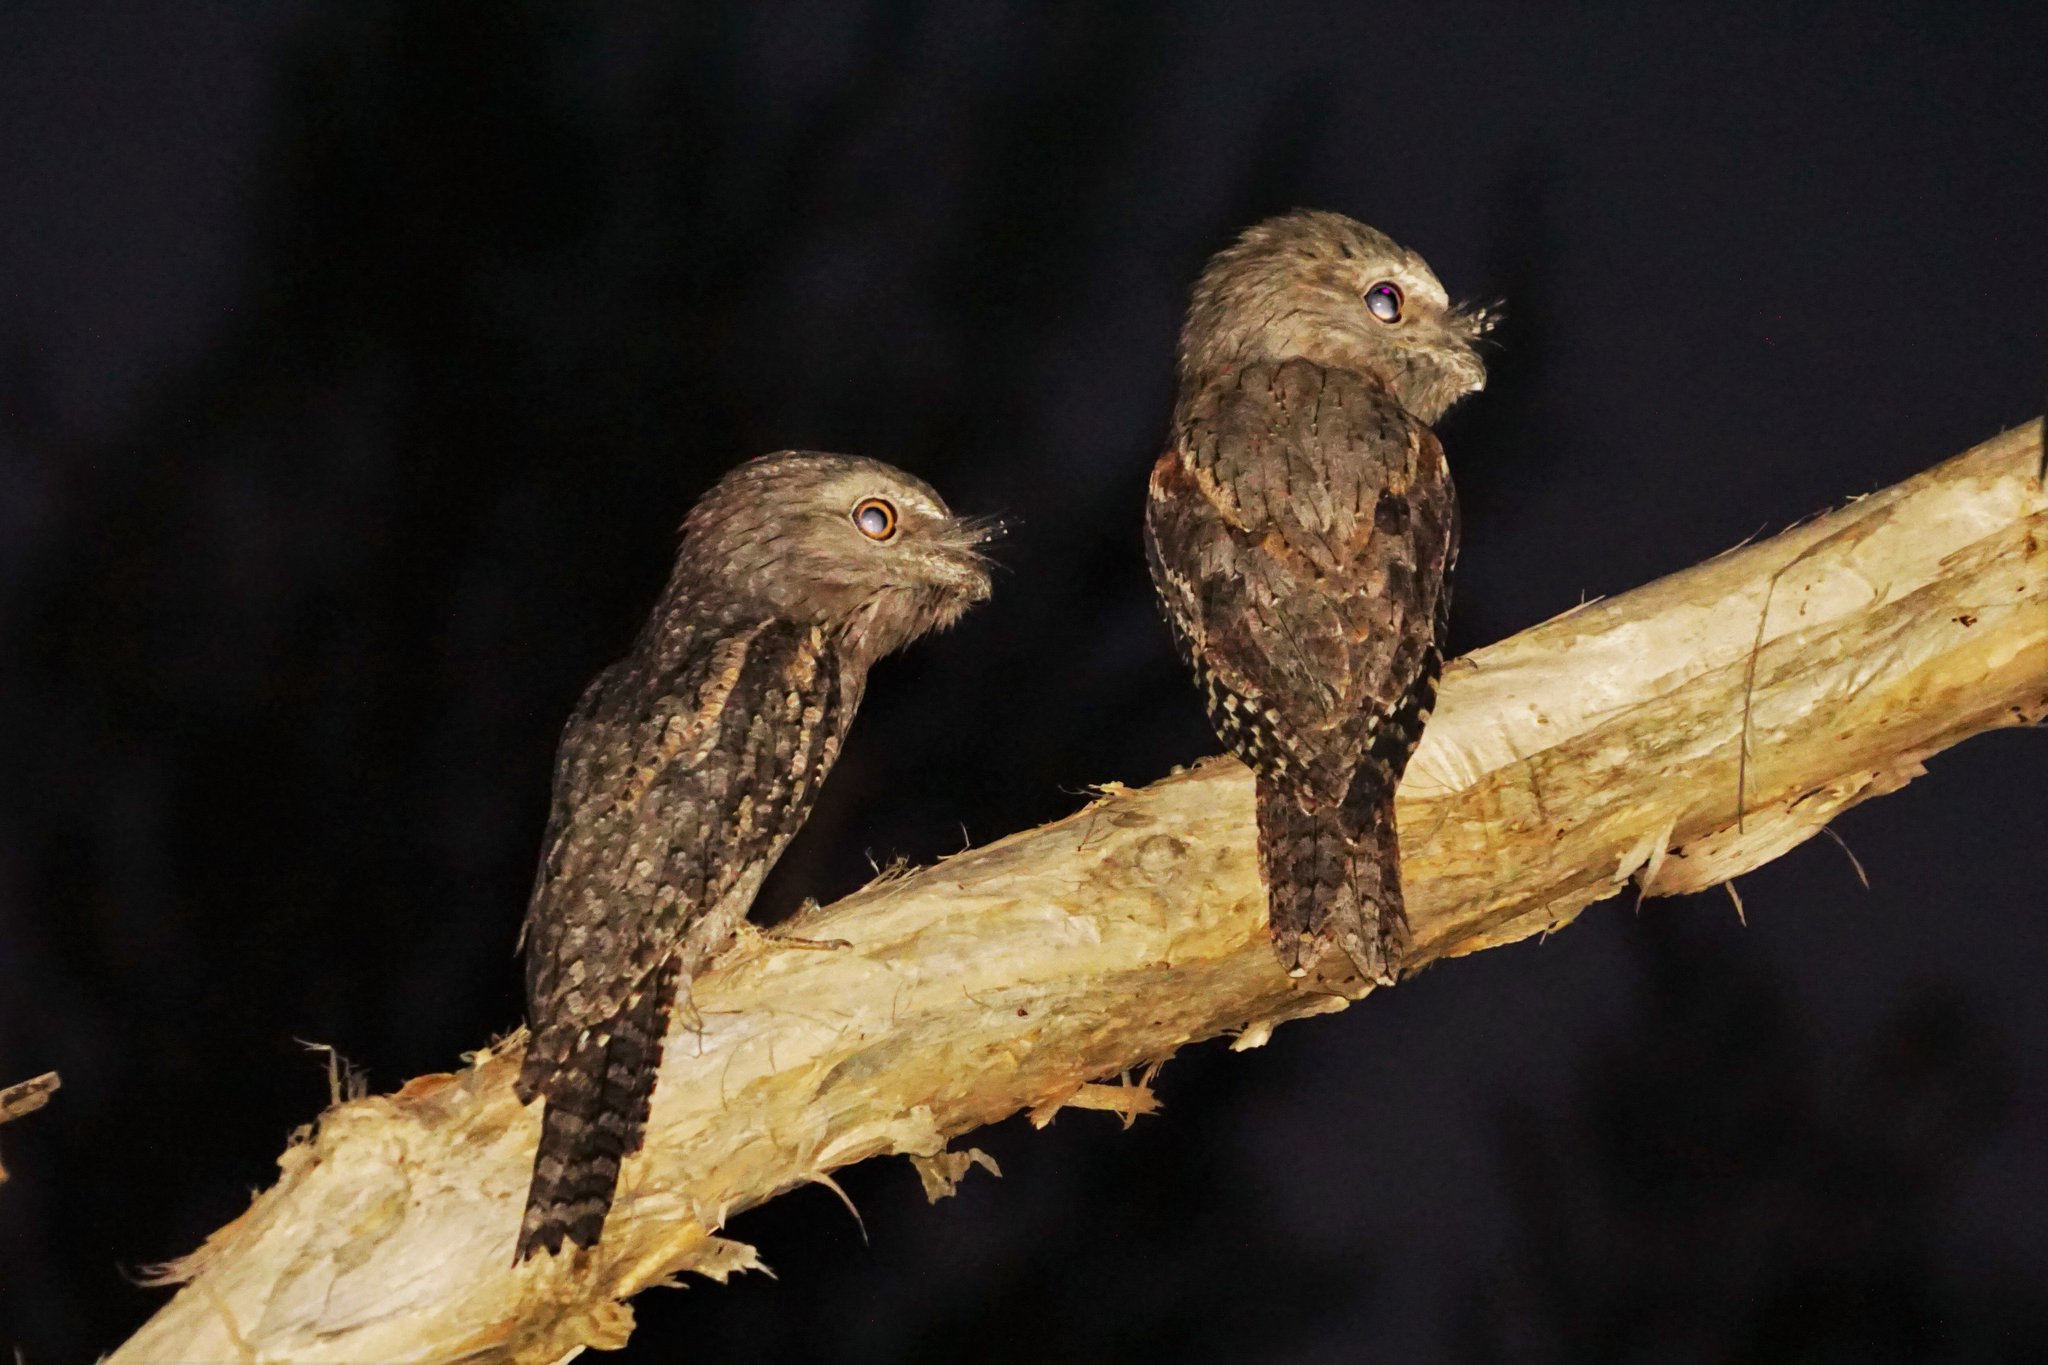
{"label": "dark night background surrounding the two birds and the branch", "polygon": [[[0,1083],[66,1074],[0,1138],[35,1363],[270,1181],[295,1038],[393,1087],[514,1021],[555,731],[748,454],[1022,522],[877,675],[780,911],[1212,749],[1137,512],[1186,282],[1260,215],[1509,301],[1444,432],[1460,647],[2042,403],[2034,4],[430,10],[0,8]],[[1747,929],[1595,907],[1198,1050],[1130,1134],[977,1138],[1006,1179],[950,1203],[848,1173],[872,1244],[793,1195],[735,1226],[778,1281],[647,1295],[627,1359],[2028,1359],[2042,759],[1843,817],[1868,892],[1815,841]]]}

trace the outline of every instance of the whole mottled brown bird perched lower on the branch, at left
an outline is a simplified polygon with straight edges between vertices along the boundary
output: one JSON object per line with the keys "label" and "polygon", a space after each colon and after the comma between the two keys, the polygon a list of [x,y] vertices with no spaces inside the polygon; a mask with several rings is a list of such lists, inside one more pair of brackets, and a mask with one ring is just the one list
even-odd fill
{"label": "whole mottled brown bird perched lower on the branch, at left", "polygon": [[868,667],[989,596],[989,532],[889,465],[801,450],[741,465],[690,510],[653,616],[584,692],[555,761],[520,931],[518,1097],[545,1113],[518,1261],[596,1244],[678,990],[809,814]]}

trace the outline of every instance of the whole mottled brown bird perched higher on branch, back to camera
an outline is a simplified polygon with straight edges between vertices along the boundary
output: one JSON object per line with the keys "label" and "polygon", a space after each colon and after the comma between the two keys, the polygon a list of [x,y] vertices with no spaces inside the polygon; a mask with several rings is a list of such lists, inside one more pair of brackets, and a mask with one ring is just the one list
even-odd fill
{"label": "whole mottled brown bird perched higher on branch, back to camera", "polygon": [[1389,984],[1407,954],[1393,796],[1458,553],[1430,426],[1485,385],[1487,325],[1413,252],[1296,211],[1208,262],[1180,334],[1145,551],[1210,724],[1257,774],[1274,948],[1327,988]]}

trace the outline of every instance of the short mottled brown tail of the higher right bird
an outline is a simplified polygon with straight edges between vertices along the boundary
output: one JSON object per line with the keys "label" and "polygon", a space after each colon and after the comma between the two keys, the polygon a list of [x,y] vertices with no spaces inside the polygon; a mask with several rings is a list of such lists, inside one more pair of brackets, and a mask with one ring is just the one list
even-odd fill
{"label": "short mottled brown tail of the higher right bird", "polygon": [[[1280,964],[1333,984],[1356,972],[1391,986],[1409,948],[1393,798],[1303,804],[1260,778],[1257,800],[1260,874]],[[1331,950],[1341,960],[1325,962]]]}

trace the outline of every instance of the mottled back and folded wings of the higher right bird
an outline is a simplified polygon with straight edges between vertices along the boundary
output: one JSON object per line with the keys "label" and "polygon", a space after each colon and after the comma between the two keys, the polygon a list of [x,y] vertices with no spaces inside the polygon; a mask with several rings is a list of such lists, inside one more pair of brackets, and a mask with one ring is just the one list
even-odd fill
{"label": "mottled back and folded wings of the higher right bird", "polygon": [[1436,436],[1309,360],[1194,393],[1153,469],[1153,577],[1217,731],[1327,800],[1362,767],[1399,780],[1434,702],[1454,540]]}

